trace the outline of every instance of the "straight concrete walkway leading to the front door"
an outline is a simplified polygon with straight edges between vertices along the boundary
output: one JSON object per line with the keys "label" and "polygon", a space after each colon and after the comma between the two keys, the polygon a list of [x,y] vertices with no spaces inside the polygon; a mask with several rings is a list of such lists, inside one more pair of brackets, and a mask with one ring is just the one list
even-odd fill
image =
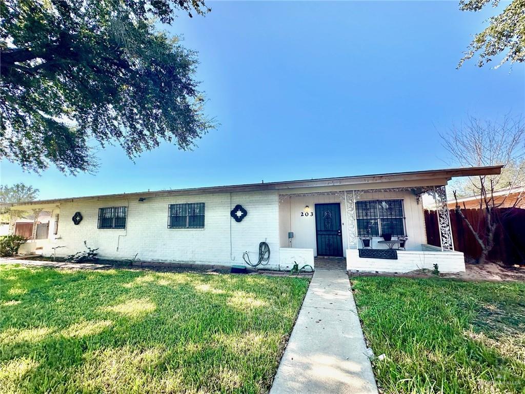
{"label": "straight concrete walkway leading to the front door", "polygon": [[345,271],[317,269],[270,394],[377,394]]}

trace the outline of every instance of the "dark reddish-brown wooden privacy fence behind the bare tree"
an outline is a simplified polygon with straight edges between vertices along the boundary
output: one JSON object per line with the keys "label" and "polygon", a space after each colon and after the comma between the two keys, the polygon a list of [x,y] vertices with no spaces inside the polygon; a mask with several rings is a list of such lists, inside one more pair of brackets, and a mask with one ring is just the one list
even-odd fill
{"label": "dark reddish-brown wooden privacy fence behind the bare tree", "polygon": [[[462,209],[463,215],[469,223],[483,234],[485,215],[481,209]],[[456,210],[450,210],[450,224],[454,237],[454,248],[472,258],[479,258],[481,247],[467,224]],[[500,225],[494,236],[494,247],[488,255],[492,261],[501,261],[503,264],[525,264],[525,209],[520,208],[497,208],[495,210],[496,220]],[[425,227],[427,243],[441,246],[439,243],[439,227],[436,211],[425,210]]]}

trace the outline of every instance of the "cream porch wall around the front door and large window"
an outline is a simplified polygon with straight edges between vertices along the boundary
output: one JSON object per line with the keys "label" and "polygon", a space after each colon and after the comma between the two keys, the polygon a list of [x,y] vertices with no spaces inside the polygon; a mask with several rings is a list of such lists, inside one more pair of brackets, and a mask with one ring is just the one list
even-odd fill
{"label": "cream porch wall around the front door and large window", "polygon": [[[423,204],[417,204],[416,196],[409,191],[403,192],[374,192],[363,193],[358,201],[363,200],[381,200],[381,199],[402,199],[405,210],[406,234],[408,236],[407,249],[421,250],[421,245],[426,244],[425,217],[423,214]],[[338,195],[307,195],[291,196],[291,198],[282,199],[279,203],[279,242],[281,247],[311,248],[314,255],[317,256],[316,243],[316,221],[315,207],[316,203],[340,203],[341,204],[341,224],[343,251],[348,249],[348,230],[346,228],[346,211],[344,198]],[[304,206],[308,205],[313,216],[301,216]],[[291,212],[291,214],[290,214]],[[291,244],[288,242],[288,232],[293,232]],[[386,248],[386,245],[377,244],[381,237],[373,239],[373,248]],[[359,247],[362,247],[358,239]],[[346,254],[345,254],[346,256]]]}

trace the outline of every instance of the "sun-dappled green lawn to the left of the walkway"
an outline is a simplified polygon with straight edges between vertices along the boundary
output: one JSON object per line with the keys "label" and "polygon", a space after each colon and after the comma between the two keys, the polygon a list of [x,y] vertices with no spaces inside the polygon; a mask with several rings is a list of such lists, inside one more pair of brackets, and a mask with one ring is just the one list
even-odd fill
{"label": "sun-dappled green lawn to the left of the walkway", "polygon": [[0,265],[0,392],[266,392],[307,287]]}

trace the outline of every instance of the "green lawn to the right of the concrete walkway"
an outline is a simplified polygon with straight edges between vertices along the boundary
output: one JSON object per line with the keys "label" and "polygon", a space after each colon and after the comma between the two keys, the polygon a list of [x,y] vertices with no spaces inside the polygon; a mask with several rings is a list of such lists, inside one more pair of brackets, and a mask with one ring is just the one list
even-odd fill
{"label": "green lawn to the right of the concrete walkway", "polygon": [[525,283],[351,279],[385,393],[525,392]]}

